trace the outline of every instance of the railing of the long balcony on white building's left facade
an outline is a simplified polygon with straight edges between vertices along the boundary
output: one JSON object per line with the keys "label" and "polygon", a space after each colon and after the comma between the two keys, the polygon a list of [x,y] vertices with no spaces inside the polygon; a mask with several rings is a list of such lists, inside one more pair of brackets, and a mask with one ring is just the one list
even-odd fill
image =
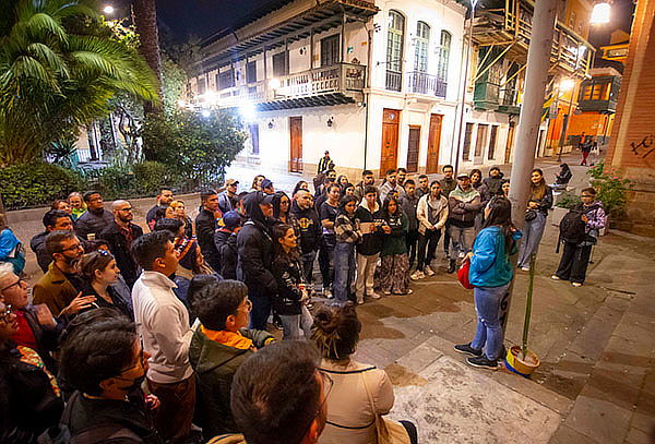
{"label": "railing of the long balcony on white building's left facade", "polygon": [[[314,68],[276,79],[222,89],[214,105],[221,108],[238,107],[245,101],[264,104],[269,101],[314,97],[335,93],[361,92],[366,85],[366,67],[336,63]],[[204,105],[206,97],[199,97],[195,105]]]}

